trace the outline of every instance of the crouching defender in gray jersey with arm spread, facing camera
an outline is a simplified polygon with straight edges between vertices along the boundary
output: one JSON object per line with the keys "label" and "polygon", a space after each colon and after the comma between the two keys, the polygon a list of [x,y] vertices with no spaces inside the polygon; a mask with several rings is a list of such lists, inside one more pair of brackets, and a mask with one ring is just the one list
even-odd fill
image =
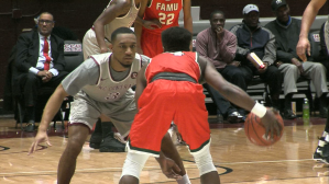
{"label": "crouching defender in gray jersey with arm spread, facing camera", "polygon": [[[30,148],[29,154],[36,151],[37,145],[42,141],[51,146],[46,134],[47,127],[63,99],[74,95],[68,123],[68,141],[57,170],[58,184],[70,182],[76,159],[99,116],[110,117],[122,135],[128,135],[130,131],[136,113],[134,92],[131,87],[135,85],[136,74],[141,67],[149,62],[149,58],[135,54],[136,37],[130,28],[118,28],[111,38],[112,53],[92,55],[58,85],[44,108],[37,135]],[[162,142],[162,152],[167,158],[157,161],[165,175],[176,179],[178,184],[190,183],[168,134]]]}

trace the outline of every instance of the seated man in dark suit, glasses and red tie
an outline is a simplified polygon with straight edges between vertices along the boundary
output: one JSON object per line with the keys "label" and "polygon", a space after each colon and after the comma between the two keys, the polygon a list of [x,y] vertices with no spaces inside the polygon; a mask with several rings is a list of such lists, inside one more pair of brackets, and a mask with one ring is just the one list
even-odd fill
{"label": "seated man in dark suit, glasses and red tie", "polygon": [[26,131],[34,130],[35,102],[41,87],[55,88],[66,77],[64,41],[52,34],[54,18],[43,12],[37,30],[23,33],[17,43],[13,94],[24,96]]}

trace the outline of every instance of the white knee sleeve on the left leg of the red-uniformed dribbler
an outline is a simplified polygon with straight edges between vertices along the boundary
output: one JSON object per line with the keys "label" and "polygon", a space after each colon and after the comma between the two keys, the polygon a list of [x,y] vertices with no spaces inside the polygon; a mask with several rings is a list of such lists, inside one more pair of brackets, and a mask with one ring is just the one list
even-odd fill
{"label": "white knee sleeve on the left leg of the red-uniformed dribbler", "polygon": [[121,177],[123,181],[132,177],[123,177],[123,176],[134,176],[135,179],[140,179],[141,172],[144,168],[144,164],[147,160],[149,156],[128,152],[127,158],[122,168]]}

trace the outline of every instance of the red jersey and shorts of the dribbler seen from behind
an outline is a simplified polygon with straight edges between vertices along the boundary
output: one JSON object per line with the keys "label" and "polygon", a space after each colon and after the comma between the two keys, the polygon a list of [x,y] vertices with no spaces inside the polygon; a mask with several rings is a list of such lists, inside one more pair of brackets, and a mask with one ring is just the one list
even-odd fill
{"label": "red jersey and shorts of the dribbler seen from behind", "polygon": [[210,143],[202,85],[166,79],[150,83],[161,72],[187,73],[198,81],[200,68],[196,58],[191,51],[164,53],[152,58],[145,71],[149,84],[139,99],[139,113],[130,129],[130,151],[158,157],[162,139],[173,120],[191,153],[198,154]]}

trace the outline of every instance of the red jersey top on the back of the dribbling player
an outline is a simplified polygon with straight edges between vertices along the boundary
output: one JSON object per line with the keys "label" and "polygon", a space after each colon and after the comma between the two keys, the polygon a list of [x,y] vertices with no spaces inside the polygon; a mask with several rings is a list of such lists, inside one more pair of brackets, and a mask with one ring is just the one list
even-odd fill
{"label": "red jersey top on the back of the dribbling player", "polygon": [[152,58],[145,77],[147,83],[161,72],[186,73],[196,81],[200,78],[200,67],[197,62],[197,54],[193,51],[163,53]]}

